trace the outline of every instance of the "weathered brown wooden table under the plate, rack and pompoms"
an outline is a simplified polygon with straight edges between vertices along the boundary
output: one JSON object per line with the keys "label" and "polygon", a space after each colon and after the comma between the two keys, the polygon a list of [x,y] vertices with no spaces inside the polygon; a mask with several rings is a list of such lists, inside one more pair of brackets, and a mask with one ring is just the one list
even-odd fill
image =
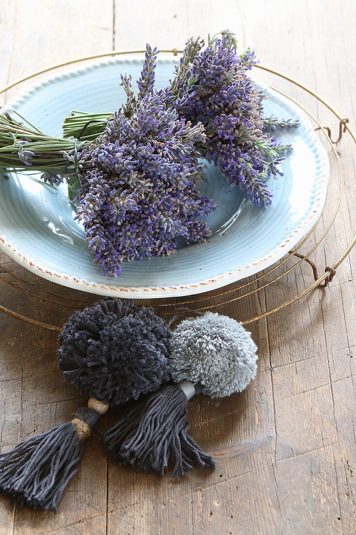
{"label": "weathered brown wooden table under the plate, rack and pompoms", "polygon": [[[0,86],[76,57],[142,48],[146,41],[182,47],[187,36],[229,27],[241,45],[256,50],[262,64],[318,91],[354,126],[355,20],[355,2],[331,0],[2,0]],[[7,91],[5,100],[25,87]],[[300,96],[290,84],[282,87]],[[330,125],[335,139],[337,121],[315,100],[304,99]],[[321,272],[356,230],[355,147],[344,136],[337,150],[346,184],[336,226],[312,256]],[[330,219],[336,179],[329,189],[330,205],[309,243]],[[1,263],[40,288],[69,295],[5,255]],[[355,263],[353,250],[329,288],[251,325],[259,365],[245,392],[221,401],[197,396],[190,403],[191,433],[214,452],[215,471],[194,470],[179,480],[137,474],[107,461],[95,435],[58,513],[34,513],[0,496],[0,532],[355,533]],[[235,318],[258,314],[312,280],[309,266],[299,268],[243,304],[216,310]],[[71,309],[34,299],[3,281],[0,287],[1,303],[20,314],[57,325],[71,314]],[[214,297],[209,301],[218,302]],[[56,334],[5,315],[0,316],[0,333],[0,439],[5,452],[19,440],[67,421],[85,400],[58,372]]]}

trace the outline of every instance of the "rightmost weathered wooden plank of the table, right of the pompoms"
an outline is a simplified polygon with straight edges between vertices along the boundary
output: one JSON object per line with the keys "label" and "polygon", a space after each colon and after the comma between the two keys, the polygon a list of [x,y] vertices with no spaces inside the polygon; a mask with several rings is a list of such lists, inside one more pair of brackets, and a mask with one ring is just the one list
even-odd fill
{"label": "rightmost weathered wooden plank of the table, right of the pompoms", "polygon": [[[250,8],[246,4],[244,7],[245,20],[250,21]],[[281,7],[280,3],[276,3],[276,7]],[[350,6],[347,20],[342,10],[334,13],[331,3],[326,6],[326,11],[328,14],[332,11],[332,22],[322,16],[318,2],[307,7],[304,4],[300,9],[298,6],[293,10],[295,19],[292,23],[289,13],[285,18],[287,28],[289,26],[291,30],[285,34],[288,58],[282,60],[280,57],[285,49],[278,48],[276,34],[270,36],[271,46],[276,50],[276,60],[280,64],[284,62],[284,72],[304,81],[346,116],[352,117],[352,101],[343,98],[342,88],[355,87],[354,69],[346,68],[335,51],[345,49],[346,53],[345,35],[348,36],[348,46],[354,39],[351,30],[354,6]],[[317,18],[319,22],[315,24]],[[302,35],[295,30],[300,25],[304,27]],[[259,28],[251,25],[252,35],[258,32]],[[291,40],[296,38],[299,47],[292,46]],[[261,50],[261,62],[271,64],[268,53],[266,49]],[[296,95],[298,93],[296,91]],[[320,105],[310,98],[306,98],[306,102],[313,113],[320,114]],[[324,111],[321,115],[326,124],[333,127],[333,138],[336,139],[336,121]],[[338,150],[342,150],[345,169],[353,170],[350,141],[341,147]],[[355,210],[348,202],[353,188],[354,182],[347,180],[337,226],[313,256],[320,272],[337,258],[355,231]],[[337,193],[337,183],[331,181],[330,197],[336,199]],[[324,227],[334,205],[335,202],[329,202],[324,210]],[[309,242],[313,243],[313,240]],[[267,320],[277,430],[276,483],[283,533],[352,533],[355,529],[355,490],[350,472],[345,468],[350,463],[347,457],[352,458],[351,464],[354,464],[356,452],[354,365],[350,350],[355,339],[354,259],[352,251],[337,270],[330,289],[310,295],[306,301]],[[308,269],[303,269],[306,284],[311,280]],[[290,277],[288,288],[268,288],[267,307],[283,301],[298,287],[303,289],[303,277],[298,280],[297,284]],[[344,293],[347,298],[343,297]]]}

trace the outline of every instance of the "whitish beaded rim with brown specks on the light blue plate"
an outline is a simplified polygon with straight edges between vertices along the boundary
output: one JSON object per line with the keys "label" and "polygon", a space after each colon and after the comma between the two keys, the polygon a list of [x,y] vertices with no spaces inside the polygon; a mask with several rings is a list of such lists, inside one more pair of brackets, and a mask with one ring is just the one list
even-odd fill
{"label": "whitish beaded rim with brown specks on the light blue plate", "polygon": [[[92,65],[89,65],[84,68],[80,68],[75,71],[69,71],[63,74],[59,74],[56,77],[49,77],[44,79],[42,82],[37,85],[29,88],[24,93],[22,93],[15,101],[10,102],[3,106],[3,110],[12,110],[16,109],[21,103],[28,100],[38,89],[48,86],[51,83],[56,83],[60,80],[67,80],[69,78],[74,78],[81,76],[89,71],[96,70],[100,67],[107,65],[117,65],[120,63],[132,63],[137,64],[141,63],[141,59],[136,58],[120,58],[120,59],[110,59],[103,62],[98,62]],[[174,59],[158,59],[158,64],[173,64],[176,63]],[[267,87],[264,83],[256,80],[256,82]],[[268,88],[273,92],[272,89]],[[10,256],[18,264],[23,265],[29,271],[32,271],[36,275],[50,280],[52,282],[57,282],[57,284],[73,288],[82,292],[93,293],[97,295],[106,295],[106,296],[115,296],[115,297],[132,297],[134,299],[154,299],[154,298],[164,298],[164,297],[181,297],[185,295],[195,295],[204,292],[210,292],[214,289],[221,288],[232,282],[242,280],[243,278],[250,277],[251,275],[262,271],[274,263],[278,262],[283,256],[288,253],[288,250],[293,248],[312,228],[313,225],[318,221],[323,208],[326,202],[327,190],[328,190],[328,180],[330,173],[330,164],[329,158],[326,150],[322,146],[321,141],[318,136],[315,134],[314,129],[307,119],[305,114],[293,103],[288,101],[288,99],[278,95],[278,100],[287,104],[291,109],[296,113],[296,116],[299,118],[300,123],[304,125],[308,131],[312,142],[315,144],[318,164],[320,165],[320,171],[318,172],[318,179],[315,181],[315,199],[312,205],[309,206],[308,212],[305,214],[305,218],[298,225],[298,227],[293,231],[287,238],[285,238],[278,247],[276,247],[271,253],[267,256],[257,259],[255,262],[237,268],[233,271],[228,271],[223,273],[216,278],[203,280],[196,282],[195,284],[190,284],[189,282],[184,285],[179,286],[159,286],[159,287],[115,287],[111,285],[98,284],[93,281],[88,281],[85,279],[77,279],[75,277],[68,277],[65,273],[58,273],[57,271],[45,269],[44,266],[41,266],[33,258],[27,258],[24,253],[21,252],[20,247],[15,246],[7,242],[1,235],[0,230],[0,249],[2,249],[7,255]]]}

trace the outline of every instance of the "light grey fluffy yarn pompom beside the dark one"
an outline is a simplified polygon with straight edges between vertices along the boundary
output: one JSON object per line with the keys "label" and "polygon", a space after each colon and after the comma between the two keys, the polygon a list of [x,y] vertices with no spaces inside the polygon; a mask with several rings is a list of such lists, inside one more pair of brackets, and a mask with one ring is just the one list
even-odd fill
{"label": "light grey fluffy yarn pompom beside the dark one", "polygon": [[183,320],[173,331],[171,375],[176,382],[200,381],[204,394],[222,398],[241,392],[256,376],[256,351],[241,323],[205,312]]}

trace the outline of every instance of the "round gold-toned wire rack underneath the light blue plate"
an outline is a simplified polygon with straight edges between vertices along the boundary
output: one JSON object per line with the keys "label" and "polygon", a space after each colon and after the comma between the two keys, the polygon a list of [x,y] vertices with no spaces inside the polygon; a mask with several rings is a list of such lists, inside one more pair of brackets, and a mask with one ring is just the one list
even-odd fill
{"label": "round gold-toned wire rack underneath the light blue plate", "polygon": [[[41,71],[37,71],[20,80],[17,80],[11,83],[10,85],[7,85],[3,89],[0,89],[0,95],[5,93],[9,89],[12,89],[20,85],[20,83],[26,80],[33,79],[37,77],[38,75],[55,70],[59,67],[66,67],[74,63],[80,63],[80,62],[84,62],[87,60],[99,59],[99,58],[104,58],[104,57],[109,57],[109,56],[118,56],[118,55],[126,55],[126,54],[133,54],[133,53],[141,54],[144,52],[145,52],[144,50],[112,51],[109,53],[102,53],[102,54],[97,54],[93,56],[87,56],[87,57],[83,57],[79,59],[74,59],[70,62],[61,63],[52,67],[45,68]],[[173,49],[173,50],[162,50],[161,52],[173,53],[173,55],[176,56],[177,53],[180,53],[182,51]],[[227,305],[229,303],[248,299],[253,294],[258,294],[259,292],[265,291],[265,289],[268,286],[273,285],[274,283],[280,281],[282,278],[288,277],[290,273],[296,272],[296,269],[299,266],[308,264],[310,266],[309,270],[311,270],[312,276],[314,279],[312,280],[311,284],[306,286],[299,293],[296,293],[295,295],[290,297],[290,299],[277,304],[273,308],[270,308],[268,310],[261,312],[261,314],[248,317],[248,318],[244,318],[244,319],[241,318],[243,319],[242,323],[244,325],[257,322],[259,319],[265,318],[269,315],[274,314],[275,312],[279,310],[284,309],[285,307],[288,307],[288,305],[295,303],[296,301],[302,299],[307,294],[313,292],[314,290],[318,288],[321,290],[326,288],[329,285],[329,282],[331,282],[332,279],[334,278],[338,266],[344,261],[347,255],[349,255],[351,249],[354,247],[356,243],[356,234],[355,234],[347,243],[347,246],[343,248],[343,250],[339,251],[338,258],[334,259],[334,262],[327,265],[321,274],[319,273],[318,269],[316,268],[316,265],[310,258],[310,256],[318,249],[320,244],[324,241],[327,234],[330,232],[331,228],[335,225],[335,219],[339,212],[340,206],[342,204],[344,173],[343,173],[343,167],[342,167],[342,159],[340,158],[340,153],[336,149],[336,146],[342,139],[343,134],[348,134],[352,143],[356,143],[356,134],[354,133],[354,131],[351,129],[349,125],[349,119],[347,119],[346,117],[343,117],[326,100],[324,100],[320,95],[315,93],[315,91],[313,91],[312,89],[309,89],[308,87],[303,85],[303,83],[300,83],[297,80],[294,80],[288,77],[287,75],[284,75],[271,68],[268,68],[262,65],[256,65],[255,68],[256,67],[262,71],[265,71],[266,73],[275,75],[280,80],[290,82],[293,87],[302,89],[306,94],[316,99],[316,101],[320,103],[324,109],[329,110],[332,116],[334,116],[334,118],[336,117],[336,119],[338,120],[339,133],[338,133],[337,139],[333,140],[330,127],[323,126],[319,118],[316,117],[311,111],[309,111],[306,108],[306,106],[301,104],[295,98],[292,98],[287,93],[284,93],[284,91],[282,91],[281,89],[270,86],[272,87],[272,89],[277,91],[277,93],[283,95],[285,98],[287,98],[288,100],[290,100],[291,102],[299,106],[299,108],[303,110],[308,115],[308,117],[313,121],[315,125],[315,131],[319,131],[322,139],[328,144],[331,155],[335,159],[335,162],[336,162],[336,165],[334,166],[335,169],[331,172],[331,177],[330,177],[330,180],[332,180],[335,184],[337,184],[337,190],[338,190],[338,193],[336,196],[335,208],[332,210],[332,215],[331,217],[329,217],[329,220],[324,221],[323,231],[318,239],[316,239],[315,231],[316,231],[316,227],[318,226],[320,222],[320,218],[322,217],[322,215],[320,216],[318,221],[316,221],[312,230],[303,238],[303,240],[301,240],[298,243],[298,246],[295,247],[295,249],[290,250],[289,253],[281,259],[281,261],[274,264],[268,270],[258,273],[257,276],[250,278],[250,279],[246,279],[246,281],[242,281],[241,284],[229,285],[228,287],[220,288],[219,290],[215,292],[209,292],[206,294],[192,296],[192,297],[189,297],[189,299],[184,298],[184,297],[172,298],[172,299],[165,298],[164,300],[155,299],[153,300],[154,302],[150,302],[150,304],[154,306],[157,314],[159,314],[160,316],[172,316],[176,314],[177,310],[180,310],[182,314],[192,314],[193,312],[211,310],[213,308],[216,309],[218,307]],[[319,113],[318,113],[318,116],[319,116]],[[328,190],[328,197],[329,197],[329,190]],[[313,243],[312,246],[308,246],[309,250],[305,251],[303,250],[304,246],[306,245],[308,239],[312,236],[312,234],[315,235],[315,242]],[[46,288],[40,288],[38,285],[33,284],[33,282],[29,282],[19,277],[16,273],[11,271],[10,269],[6,269],[5,266],[2,264],[0,264],[0,280],[10,285],[12,288],[17,289],[31,296],[31,299],[41,300],[42,302],[46,301],[48,303],[52,303],[60,307],[65,307],[69,311],[80,310],[80,309],[85,308],[88,304],[92,302],[92,298],[93,298],[93,296],[91,295],[91,299],[88,299],[88,294],[85,294],[83,292],[75,292],[75,291],[73,291],[73,296],[71,297],[65,296],[60,293],[61,287],[57,285],[56,286],[58,290],[56,292],[50,291],[49,289],[46,289]],[[87,297],[87,299],[85,299],[85,297]],[[213,304],[212,304],[212,301],[214,301]],[[147,302],[148,301],[145,300],[145,303]],[[43,327],[43,328],[56,331],[56,332],[61,331],[60,326],[43,323],[34,318],[24,316],[14,310],[10,310],[6,308],[2,304],[0,304],[0,311],[3,312],[4,314],[20,319],[34,326]]]}

